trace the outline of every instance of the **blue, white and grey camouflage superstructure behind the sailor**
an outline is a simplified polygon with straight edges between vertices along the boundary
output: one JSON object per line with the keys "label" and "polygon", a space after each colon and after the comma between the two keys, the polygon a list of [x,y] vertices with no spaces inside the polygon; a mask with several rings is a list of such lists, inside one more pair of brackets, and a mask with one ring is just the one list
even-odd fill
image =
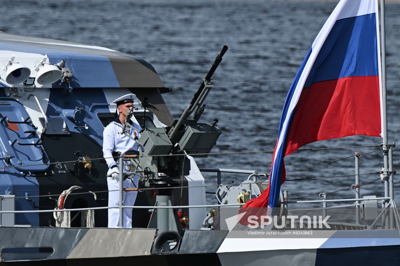
{"label": "blue, white and grey camouflage superstructure behind the sailor", "polygon": [[[151,105],[147,107],[150,119],[146,123],[152,123],[152,127],[172,124],[161,97],[169,90],[154,68],[141,58],[106,48],[6,33],[1,33],[1,39],[5,65],[27,66],[30,79],[36,79],[32,83],[8,84],[8,69],[4,67],[0,81],[4,87],[4,109],[0,111],[2,155],[9,158],[4,161],[0,190],[3,195],[17,197],[17,210],[54,208],[58,197],[32,197],[57,195],[72,186],[107,190],[106,164],[76,161],[102,157],[102,131],[114,119],[116,106],[110,103],[118,95],[133,92],[139,99],[147,97]],[[39,71],[58,62],[64,66],[57,69],[63,78],[38,83]],[[65,76],[66,72],[69,76]],[[46,75],[50,72],[42,78]],[[142,121],[142,111],[135,115]],[[106,204],[106,194],[98,195],[96,203],[93,197],[82,195],[81,199],[66,201],[65,206],[101,206]],[[106,226],[104,213],[98,211],[96,226]],[[16,214],[15,224],[54,226],[52,217],[52,213]]]}

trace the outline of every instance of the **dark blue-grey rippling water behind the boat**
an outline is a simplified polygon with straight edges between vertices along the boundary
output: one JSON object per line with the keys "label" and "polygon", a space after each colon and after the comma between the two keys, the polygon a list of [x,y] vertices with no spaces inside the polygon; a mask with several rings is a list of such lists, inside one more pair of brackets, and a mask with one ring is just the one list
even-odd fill
{"label": "dark blue-grey rippling water behind the boat", "polygon": [[[257,0],[69,0],[2,1],[4,32],[105,46],[150,62],[172,93],[164,99],[175,119],[192,99],[223,45],[229,47],[214,74],[202,121],[219,119],[223,131],[213,152],[273,150],[286,93],[320,28],[337,2]],[[400,4],[386,5],[389,141],[400,141]],[[354,136],[306,147],[380,144],[377,137]],[[375,148],[297,151],[285,160],[298,169]],[[394,151],[394,166],[399,164]],[[257,170],[269,173],[271,153],[212,155],[200,167]],[[382,153],[363,155],[360,172],[380,171]],[[354,158],[327,167],[288,173],[287,179],[354,173]],[[360,182],[379,175],[362,175]],[[246,176],[223,174],[223,183]],[[215,183],[214,175],[207,175]],[[286,181],[289,196],[311,195],[350,187],[354,177]],[[383,183],[361,187],[361,195],[383,196]],[[398,182],[395,191],[400,192]],[[208,195],[214,202],[214,197]],[[329,195],[354,197],[354,190]],[[211,201],[209,201],[211,202]]]}

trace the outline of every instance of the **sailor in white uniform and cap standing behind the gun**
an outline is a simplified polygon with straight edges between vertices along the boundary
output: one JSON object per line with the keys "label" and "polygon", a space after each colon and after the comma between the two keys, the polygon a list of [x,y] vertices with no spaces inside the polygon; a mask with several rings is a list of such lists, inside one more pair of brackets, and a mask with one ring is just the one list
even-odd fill
{"label": "sailor in white uniform and cap standing behind the gun", "polygon": [[[112,152],[119,151],[122,154],[126,154],[127,151],[138,151],[138,144],[130,139],[128,136],[121,134],[123,129],[123,123],[125,121],[125,117],[128,114],[130,108],[133,108],[133,100],[136,98],[134,94],[127,94],[118,99],[115,99],[113,103],[117,104],[117,110],[119,115],[112,121],[103,132],[103,155],[106,158],[107,165],[109,167],[107,176],[107,184],[108,184],[108,206],[118,206],[119,205],[119,161],[115,161],[112,157]],[[132,121],[133,120],[133,121]],[[141,130],[142,128],[132,116],[130,124],[133,125],[136,129]],[[131,127],[126,127],[125,131],[132,137],[140,137],[140,133],[132,129]],[[124,161],[124,173],[128,173],[132,171],[132,165],[130,162]],[[114,173],[115,172],[115,173]],[[139,177],[134,175],[132,177],[136,187],[138,186]],[[124,188],[134,188],[135,186],[132,184],[130,179],[125,179],[123,183]],[[117,190],[117,191],[112,191]],[[123,195],[123,205],[124,206],[133,206],[136,200],[137,191],[128,191],[124,192]],[[123,209],[123,221],[124,228],[132,227],[132,209],[124,208]],[[112,208],[108,209],[108,227],[119,227],[119,209]]]}

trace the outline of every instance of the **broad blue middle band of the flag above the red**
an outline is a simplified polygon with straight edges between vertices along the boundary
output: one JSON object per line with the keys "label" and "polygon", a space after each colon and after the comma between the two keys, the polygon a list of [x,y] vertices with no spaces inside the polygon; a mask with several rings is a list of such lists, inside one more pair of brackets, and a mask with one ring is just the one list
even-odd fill
{"label": "broad blue middle band of the flag above the red", "polygon": [[304,88],[315,82],[342,77],[377,76],[377,51],[375,13],[336,21]]}

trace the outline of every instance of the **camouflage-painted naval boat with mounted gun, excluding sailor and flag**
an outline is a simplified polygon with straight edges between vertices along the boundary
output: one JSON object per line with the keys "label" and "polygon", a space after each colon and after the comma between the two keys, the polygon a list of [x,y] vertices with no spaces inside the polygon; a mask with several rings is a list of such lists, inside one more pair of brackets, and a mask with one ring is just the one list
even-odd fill
{"label": "camouflage-painted naval boat with mounted gun, excluding sailor and flag", "polygon": [[[280,192],[269,217],[274,223],[266,223],[269,228],[256,224],[257,218],[249,227],[240,209],[268,188],[268,175],[198,168],[195,158],[207,157],[222,133],[217,120],[199,119],[213,87],[211,77],[227,49],[174,120],[162,98],[171,90],[142,58],[1,32],[0,264],[400,264],[394,143],[388,145],[387,139],[371,145],[384,151],[383,170],[370,173],[384,181],[384,197],[361,198],[360,186],[369,182],[360,184],[357,153],[354,198],[327,199],[328,193],[321,193],[323,199],[290,201],[287,191]],[[134,220],[132,228],[106,228],[110,207],[102,132],[115,117],[111,102],[128,93],[139,99],[128,119],[142,127],[134,128],[140,138],[132,137],[142,149],[113,156],[121,166],[124,161],[133,164],[129,173],[120,171],[120,184],[134,175],[140,182],[134,189],[121,185],[120,205],[111,208],[120,213],[132,208]],[[123,127],[126,134],[124,129],[132,125],[125,121]],[[218,185],[210,187],[216,188],[218,204],[206,202],[204,172],[216,173]],[[247,178],[222,184],[222,173]],[[128,190],[138,193],[134,206],[122,204],[122,193]],[[339,205],[327,207],[327,202]],[[321,208],[288,208],[297,203]],[[341,220],[328,220],[335,213]]]}

